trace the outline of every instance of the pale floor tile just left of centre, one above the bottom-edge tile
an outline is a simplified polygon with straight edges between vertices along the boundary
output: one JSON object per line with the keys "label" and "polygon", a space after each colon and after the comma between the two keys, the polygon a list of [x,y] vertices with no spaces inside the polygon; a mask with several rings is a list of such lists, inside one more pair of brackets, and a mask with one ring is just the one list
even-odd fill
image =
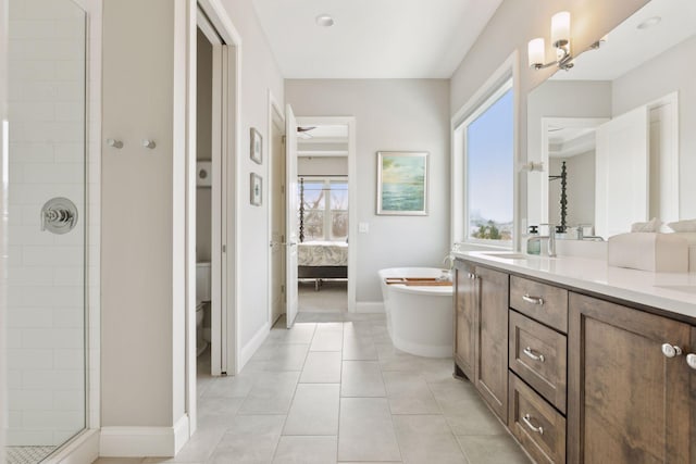
{"label": "pale floor tile just left of centre, one above the bottom-edge tile", "polygon": [[337,435],[338,384],[299,384],[283,435]]}

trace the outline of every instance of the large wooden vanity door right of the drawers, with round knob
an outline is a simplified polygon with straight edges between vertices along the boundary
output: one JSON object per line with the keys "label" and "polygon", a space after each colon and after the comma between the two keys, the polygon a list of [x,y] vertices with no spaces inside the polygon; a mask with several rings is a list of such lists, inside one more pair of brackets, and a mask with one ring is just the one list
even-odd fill
{"label": "large wooden vanity door right of the drawers, with round knob", "polygon": [[695,341],[687,324],[571,293],[568,462],[696,462]]}

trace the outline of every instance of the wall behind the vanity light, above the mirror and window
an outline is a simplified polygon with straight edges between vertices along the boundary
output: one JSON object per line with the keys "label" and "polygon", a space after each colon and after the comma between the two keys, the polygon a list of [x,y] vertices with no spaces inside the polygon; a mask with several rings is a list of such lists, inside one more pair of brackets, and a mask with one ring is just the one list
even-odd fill
{"label": "wall behind the vanity light, above the mirror and window", "polygon": [[[647,3],[647,0],[514,0],[504,1],[485,29],[468,52],[451,77],[450,114],[463,106],[505,60],[518,50],[520,53],[520,158],[527,155],[526,95],[544,81],[554,68],[535,71],[526,66],[527,42],[535,37],[545,37],[548,43],[550,18],[558,11],[567,10],[572,17],[572,46],[575,51],[586,50],[591,43],[602,37],[624,18]],[[548,52],[550,61],[550,51]],[[517,192],[520,200],[521,224],[526,224],[526,174],[520,175]]]}

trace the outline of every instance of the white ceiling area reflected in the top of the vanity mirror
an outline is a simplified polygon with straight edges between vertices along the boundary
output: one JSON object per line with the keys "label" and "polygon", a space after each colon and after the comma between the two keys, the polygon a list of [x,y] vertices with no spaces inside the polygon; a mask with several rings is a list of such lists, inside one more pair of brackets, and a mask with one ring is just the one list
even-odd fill
{"label": "white ceiling area reflected in the top of the vanity mirror", "polygon": [[[660,22],[648,28],[637,26],[651,17]],[[664,50],[696,34],[696,1],[651,0],[617,26],[598,50],[575,59],[569,72],[557,72],[555,80],[614,80]]]}

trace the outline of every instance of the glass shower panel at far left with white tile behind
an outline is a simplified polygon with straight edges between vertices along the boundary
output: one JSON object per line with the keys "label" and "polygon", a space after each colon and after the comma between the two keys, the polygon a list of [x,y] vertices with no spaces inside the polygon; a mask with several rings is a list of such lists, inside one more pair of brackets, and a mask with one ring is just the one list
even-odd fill
{"label": "glass shower panel at far left with white tile behind", "polygon": [[9,463],[86,426],[85,12],[10,0]]}

